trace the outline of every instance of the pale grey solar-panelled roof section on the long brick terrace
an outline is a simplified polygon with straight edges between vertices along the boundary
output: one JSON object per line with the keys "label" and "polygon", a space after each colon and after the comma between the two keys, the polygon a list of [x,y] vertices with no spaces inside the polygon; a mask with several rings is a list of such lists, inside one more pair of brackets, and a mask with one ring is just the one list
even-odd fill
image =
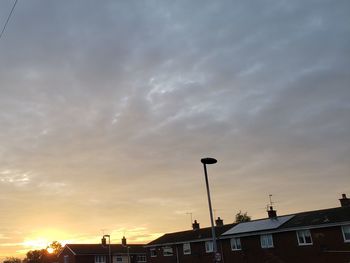
{"label": "pale grey solar-panelled roof section on the long brick terrace", "polygon": [[257,231],[266,231],[273,230],[279,228],[281,225],[286,223],[288,220],[293,218],[294,215],[288,216],[278,216],[276,218],[266,218],[260,220],[253,220],[249,222],[240,223],[233,228],[229,229],[222,235],[236,235],[236,234],[244,234],[251,233]]}

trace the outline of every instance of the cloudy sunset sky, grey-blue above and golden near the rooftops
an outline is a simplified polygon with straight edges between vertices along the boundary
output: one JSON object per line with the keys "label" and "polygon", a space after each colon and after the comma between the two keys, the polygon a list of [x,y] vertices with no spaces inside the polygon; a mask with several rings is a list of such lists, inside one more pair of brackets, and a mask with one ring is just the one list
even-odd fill
{"label": "cloudy sunset sky, grey-blue above and golden near the rooftops", "polygon": [[[13,0],[0,1],[2,26]],[[19,0],[0,39],[0,258],[350,195],[348,0]],[[192,215],[190,214],[192,213]]]}

